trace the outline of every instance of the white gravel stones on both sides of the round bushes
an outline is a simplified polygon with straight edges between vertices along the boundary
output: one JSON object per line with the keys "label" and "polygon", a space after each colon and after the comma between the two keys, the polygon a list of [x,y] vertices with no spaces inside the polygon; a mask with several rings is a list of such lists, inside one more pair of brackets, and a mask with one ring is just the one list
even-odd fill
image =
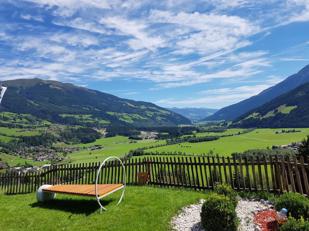
{"label": "white gravel stones on both sides of the round bushes", "polygon": [[[253,221],[253,216],[257,212],[262,212],[267,209],[273,209],[275,205],[274,201],[265,201],[260,198],[241,198],[236,207],[237,216],[241,219],[241,224],[238,228],[239,231],[260,231],[260,227]],[[171,220],[171,227],[173,230],[179,231],[205,231],[201,224],[201,208],[205,202],[201,199],[196,205],[189,205],[188,207],[182,207],[179,211],[179,215],[176,215]]]}

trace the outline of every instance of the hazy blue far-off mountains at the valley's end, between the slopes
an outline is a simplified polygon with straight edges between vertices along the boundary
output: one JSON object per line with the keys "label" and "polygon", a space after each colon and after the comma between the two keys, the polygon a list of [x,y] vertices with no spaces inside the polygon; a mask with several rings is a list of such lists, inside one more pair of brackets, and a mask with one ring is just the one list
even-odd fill
{"label": "hazy blue far-off mountains at the valley's end, between the slopes", "polygon": [[187,117],[191,121],[197,121],[205,118],[206,116],[213,115],[216,111],[219,109],[214,109],[214,108],[206,108],[206,107],[183,107],[183,108],[178,108],[178,107],[166,107],[166,109],[170,111],[174,111],[180,115],[183,115]]}

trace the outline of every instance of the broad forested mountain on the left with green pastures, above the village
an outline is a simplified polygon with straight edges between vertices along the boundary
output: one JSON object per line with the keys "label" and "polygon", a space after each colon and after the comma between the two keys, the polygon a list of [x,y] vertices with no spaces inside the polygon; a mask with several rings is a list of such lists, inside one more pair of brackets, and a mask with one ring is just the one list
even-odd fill
{"label": "broad forested mountain on the left with green pastures, above the village", "polygon": [[53,123],[87,126],[177,126],[190,120],[153,103],[121,99],[70,83],[43,79],[4,81],[2,111],[32,114]]}

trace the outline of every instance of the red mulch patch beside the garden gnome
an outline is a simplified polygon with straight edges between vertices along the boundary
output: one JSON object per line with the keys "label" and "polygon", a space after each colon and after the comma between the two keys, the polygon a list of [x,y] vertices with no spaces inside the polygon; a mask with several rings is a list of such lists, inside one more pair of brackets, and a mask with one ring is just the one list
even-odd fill
{"label": "red mulch patch beside the garden gnome", "polygon": [[253,221],[260,223],[260,228],[263,231],[277,230],[277,213],[275,210],[266,210],[256,213]]}

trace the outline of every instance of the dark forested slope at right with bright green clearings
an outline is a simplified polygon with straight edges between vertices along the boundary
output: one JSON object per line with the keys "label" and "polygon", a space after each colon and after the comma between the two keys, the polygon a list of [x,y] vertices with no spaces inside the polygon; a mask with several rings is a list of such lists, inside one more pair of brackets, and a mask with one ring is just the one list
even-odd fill
{"label": "dark forested slope at right with bright green clearings", "polygon": [[236,118],[233,127],[306,128],[309,126],[309,82]]}

